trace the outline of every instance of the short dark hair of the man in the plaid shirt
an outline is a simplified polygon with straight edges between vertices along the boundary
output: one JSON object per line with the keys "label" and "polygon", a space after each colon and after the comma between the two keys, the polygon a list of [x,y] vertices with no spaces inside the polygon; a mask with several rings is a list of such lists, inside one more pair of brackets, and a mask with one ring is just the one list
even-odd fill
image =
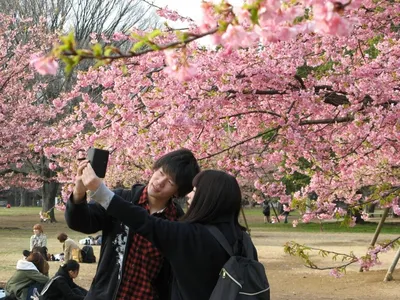
{"label": "short dark hair of the man in the plaid shirt", "polygon": [[192,189],[192,180],[200,167],[193,153],[188,149],[172,151],[160,157],[153,165],[153,170],[162,169],[178,185],[178,197],[183,197]]}

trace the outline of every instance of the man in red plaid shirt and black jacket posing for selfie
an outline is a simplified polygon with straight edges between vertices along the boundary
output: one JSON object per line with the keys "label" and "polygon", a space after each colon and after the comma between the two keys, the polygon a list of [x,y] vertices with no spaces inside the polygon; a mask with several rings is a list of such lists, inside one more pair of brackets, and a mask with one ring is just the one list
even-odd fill
{"label": "man in red plaid shirt and black jacket posing for selfie", "polygon": [[[135,184],[131,190],[114,192],[153,216],[176,221],[183,211],[172,199],[192,190],[192,180],[200,171],[196,158],[187,149],[176,150],[159,158],[153,171],[147,186]],[[169,299],[168,262],[148,240],[107,215],[102,206],[88,203],[80,180],[75,181],[65,219],[71,229],[85,234],[102,231],[100,259],[86,300]]]}

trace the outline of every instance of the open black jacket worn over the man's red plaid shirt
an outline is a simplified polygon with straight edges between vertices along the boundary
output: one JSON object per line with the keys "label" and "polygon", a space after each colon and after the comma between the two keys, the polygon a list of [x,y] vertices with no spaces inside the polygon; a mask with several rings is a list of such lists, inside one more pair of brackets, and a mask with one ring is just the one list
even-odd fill
{"label": "open black jacket worn over the man's red plaid shirt", "polygon": [[[131,190],[119,189],[114,192],[120,195],[124,202],[137,203],[143,189],[143,185],[136,184]],[[178,204],[174,204],[178,212],[177,218],[179,218],[183,215],[183,210]],[[162,218],[163,215],[159,217]],[[131,243],[128,228],[121,221],[108,215],[99,204],[86,201],[74,204],[71,199],[67,202],[65,220],[71,229],[86,234],[94,234],[102,230],[97,271],[85,300],[115,299],[129,250],[126,245]],[[158,290],[160,299],[167,300],[170,299],[171,271],[168,262],[166,260],[164,262],[154,286]]]}

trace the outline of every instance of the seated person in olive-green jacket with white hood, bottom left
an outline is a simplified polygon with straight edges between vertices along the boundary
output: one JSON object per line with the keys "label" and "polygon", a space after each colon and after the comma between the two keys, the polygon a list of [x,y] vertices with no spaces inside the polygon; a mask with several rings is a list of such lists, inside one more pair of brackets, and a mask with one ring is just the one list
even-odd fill
{"label": "seated person in olive-green jacket with white hood, bottom left", "polygon": [[[5,286],[6,299],[31,300],[33,291],[40,291],[49,277],[43,274],[44,259],[40,253],[31,253],[17,262],[17,270]],[[8,297],[8,298],[7,298]]]}

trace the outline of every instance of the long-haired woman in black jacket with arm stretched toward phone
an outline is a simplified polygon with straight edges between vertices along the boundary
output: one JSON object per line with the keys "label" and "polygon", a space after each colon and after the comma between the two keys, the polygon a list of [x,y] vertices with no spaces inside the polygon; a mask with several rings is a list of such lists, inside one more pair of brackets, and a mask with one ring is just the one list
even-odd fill
{"label": "long-haired woman in black jacket with arm stretched toward phone", "polygon": [[169,260],[174,274],[171,299],[209,299],[230,257],[205,225],[217,227],[235,253],[243,254],[246,233],[238,222],[241,191],[235,177],[223,171],[206,170],[194,178],[189,208],[180,222],[153,217],[124,201],[104,185],[90,164],[82,162],[78,176],[108,214],[151,241]]}

